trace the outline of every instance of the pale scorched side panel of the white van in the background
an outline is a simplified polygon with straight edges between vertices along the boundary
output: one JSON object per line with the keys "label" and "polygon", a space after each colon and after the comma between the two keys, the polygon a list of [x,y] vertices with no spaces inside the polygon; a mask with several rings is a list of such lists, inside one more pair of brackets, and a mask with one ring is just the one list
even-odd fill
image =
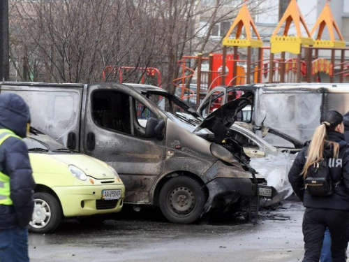
{"label": "pale scorched side panel of the white van in the background", "polygon": [[[323,94],[316,89],[278,89],[258,91],[255,124],[271,127],[305,142],[320,124]],[[259,131],[258,136],[262,136]],[[290,147],[284,139],[267,133],[264,139],[276,147]]]}

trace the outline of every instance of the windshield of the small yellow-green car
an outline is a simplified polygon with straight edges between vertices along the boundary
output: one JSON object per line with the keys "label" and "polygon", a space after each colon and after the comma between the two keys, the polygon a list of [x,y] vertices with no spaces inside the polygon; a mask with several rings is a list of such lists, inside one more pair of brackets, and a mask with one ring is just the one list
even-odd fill
{"label": "windshield of the small yellow-green car", "polygon": [[38,129],[30,128],[29,136],[24,138],[29,152],[48,152],[48,151],[61,151],[67,150],[64,145],[61,145],[50,136],[38,131]]}

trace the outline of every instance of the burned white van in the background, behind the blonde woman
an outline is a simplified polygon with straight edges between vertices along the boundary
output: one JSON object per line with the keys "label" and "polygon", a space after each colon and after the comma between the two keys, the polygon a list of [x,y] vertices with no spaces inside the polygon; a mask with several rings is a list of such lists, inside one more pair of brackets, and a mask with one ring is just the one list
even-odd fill
{"label": "burned white van in the background, behind the blonde woman", "polygon": [[264,126],[281,131],[302,143],[310,140],[320,121],[320,115],[326,110],[337,110],[341,114],[349,111],[348,84],[253,84],[218,86],[207,93],[198,108],[203,117],[216,108],[243,96],[253,93],[251,114],[240,115],[239,121],[257,127],[255,133],[267,142],[279,147],[293,147],[281,140]]}

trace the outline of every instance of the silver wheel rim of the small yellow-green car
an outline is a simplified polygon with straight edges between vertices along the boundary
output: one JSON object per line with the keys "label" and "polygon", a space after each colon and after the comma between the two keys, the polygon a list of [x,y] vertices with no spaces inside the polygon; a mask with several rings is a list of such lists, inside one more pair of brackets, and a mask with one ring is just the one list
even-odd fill
{"label": "silver wheel rim of the small yellow-green car", "polygon": [[34,212],[29,225],[34,228],[44,228],[50,222],[51,208],[46,201],[36,199],[34,203]]}

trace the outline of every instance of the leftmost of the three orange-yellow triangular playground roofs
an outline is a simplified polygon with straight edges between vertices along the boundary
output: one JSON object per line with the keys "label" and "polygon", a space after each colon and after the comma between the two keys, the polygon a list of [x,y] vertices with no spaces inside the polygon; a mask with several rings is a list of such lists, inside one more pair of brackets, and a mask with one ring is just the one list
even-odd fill
{"label": "leftmost of the three orange-yellow triangular playground roofs", "polygon": [[[229,38],[232,31],[237,27],[237,34],[235,38]],[[246,39],[239,39],[242,33],[242,27],[245,27],[246,31]],[[257,40],[252,38],[251,28],[255,32],[255,36],[257,36]],[[260,39],[260,34],[258,34],[257,28],[255,27],[255,23],[251,17],[250,12],[248,11],[246,1],[242,5],[239,14],[235,18],[235,21],[232,23],[228,33],[223,38],[223,45],[226,46],[240,46],[240,47],[248,47],[251,46],[253,48],[262,47],[262,40]]]}

